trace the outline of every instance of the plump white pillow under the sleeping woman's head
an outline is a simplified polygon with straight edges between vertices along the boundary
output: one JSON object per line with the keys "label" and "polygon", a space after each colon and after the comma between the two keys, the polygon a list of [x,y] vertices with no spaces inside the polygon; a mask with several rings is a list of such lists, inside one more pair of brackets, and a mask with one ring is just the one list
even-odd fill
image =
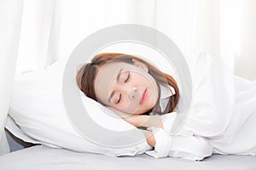
{"label": "plump white pillow under the sleeping woman's head", "polygon": [[[62,75],[67,59],[62,59],[47,70],[33,71],[15,77],[13,95],[9,106],[9,116],[14,123],[7,123],[7,128],[25,141],[47,144],[69,150],[102,153],[110,156],[136,155],[143,153],[148,147],[146,140],[136,146],[122,149],[103,147],[85,139],[68,120],[62,101]],[[108,116],[93,99],[82,95],[84,107],[91,118],[102,127],[108,129],[127,130],[135,128],[123,119]],[[135,128],[136,129],[136,128]],[[22,134],[21,134],[22,133]],[[26,136],[26,138],[24,137]],[[135,136],[143,135],[139,129]],[[30,138],[30,139],[27,139]],[[113,137],[109,137],[110,139]],[[134,136],[115,137],[129,141]]]}

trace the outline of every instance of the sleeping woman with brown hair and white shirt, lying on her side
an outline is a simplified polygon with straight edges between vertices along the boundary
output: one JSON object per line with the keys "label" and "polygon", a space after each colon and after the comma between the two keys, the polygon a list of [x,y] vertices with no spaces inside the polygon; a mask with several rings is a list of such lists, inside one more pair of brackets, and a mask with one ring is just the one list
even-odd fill
{"label": "sleeping woman with brown hair and white shirt, lying on her side", "polygon": [[[81,91],[140,128],[149,156],[202,160],[212,153],[256,155],[256,82],[237,77],[204,53],[188,59],[189,116],[172,134],[181,99],[175,79],[130,54],[96,54],[77,72]],[[165,121],[164,118],[165,117]]]}

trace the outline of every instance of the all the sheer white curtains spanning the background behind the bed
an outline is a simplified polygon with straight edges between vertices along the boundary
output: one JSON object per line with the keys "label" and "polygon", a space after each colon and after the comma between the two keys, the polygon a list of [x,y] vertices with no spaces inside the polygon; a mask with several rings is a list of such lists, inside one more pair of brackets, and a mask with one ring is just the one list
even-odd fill
{"label": "all the sheer white curtains spanning the background behind the bed", "polygon": [[152,26],[183,53],[206,51],[256,79],[255,9],[254,0],[0,0],[0,138],[14,76],[67,57],[107,26]]}

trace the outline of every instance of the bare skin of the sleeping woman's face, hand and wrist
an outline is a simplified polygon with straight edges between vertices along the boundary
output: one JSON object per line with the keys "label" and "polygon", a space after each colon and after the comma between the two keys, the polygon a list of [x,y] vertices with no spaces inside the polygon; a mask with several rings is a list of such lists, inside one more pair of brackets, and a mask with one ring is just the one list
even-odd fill
{"label": "bare skin of the sleeping woman's face, hand and wrist", "polygon": [[[134,65],[118,62],[99,67],[95,81],[96,97],[135,127],[163,128],[160,116],[142,115],[154,107],[159,94],[147,65],[136,59],[133,61]],[[148,144],[154,147],[153,132],[142,131]]]}

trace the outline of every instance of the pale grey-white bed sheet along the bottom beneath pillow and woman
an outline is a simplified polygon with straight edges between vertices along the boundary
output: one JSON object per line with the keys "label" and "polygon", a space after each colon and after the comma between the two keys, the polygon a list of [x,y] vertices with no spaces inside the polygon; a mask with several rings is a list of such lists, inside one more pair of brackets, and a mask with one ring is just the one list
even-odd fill
{"label": "pale grey-white bed sheet along the bottom beneath pillow and woman", "polygon": [[0,169],[79,170],[79,169],[189,169],[189,170],[255,170],[256,156],[213,155],[204,161],[166,157],[155,159],[146,154],[112,157],[35,145],[0,156]]}

